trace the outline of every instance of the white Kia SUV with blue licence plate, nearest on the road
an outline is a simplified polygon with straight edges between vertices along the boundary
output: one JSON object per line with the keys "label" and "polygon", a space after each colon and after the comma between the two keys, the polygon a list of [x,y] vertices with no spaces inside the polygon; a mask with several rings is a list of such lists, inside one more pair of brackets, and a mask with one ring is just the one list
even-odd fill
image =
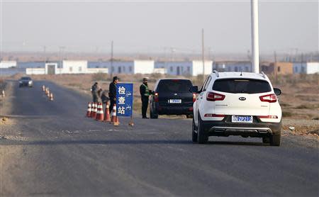
{"label": "white Kia SUV with blue licence plate, nearest on the road", "polygon": [[279,146],[281,107],[268,77],[262,73],[214,71],[198,91],[194,102],[193,142],[206,143],[209,136],[262,137]]}

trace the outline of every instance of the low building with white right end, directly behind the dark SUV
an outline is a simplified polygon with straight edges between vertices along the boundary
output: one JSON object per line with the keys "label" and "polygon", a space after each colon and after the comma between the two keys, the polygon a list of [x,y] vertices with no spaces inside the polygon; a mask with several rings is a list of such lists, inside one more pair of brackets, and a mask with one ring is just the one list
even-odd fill
{"label": "low building with white right end, directly behind the dark SUV", "polygon": [[[211,74],[212,72],[212,61],[204,62],[204,74]],[[203,61],[194,60],[187,62],[155,62],[156,69],[165,69],[166,74],[171,75],[187,75],[197,76],[203,74]]]}

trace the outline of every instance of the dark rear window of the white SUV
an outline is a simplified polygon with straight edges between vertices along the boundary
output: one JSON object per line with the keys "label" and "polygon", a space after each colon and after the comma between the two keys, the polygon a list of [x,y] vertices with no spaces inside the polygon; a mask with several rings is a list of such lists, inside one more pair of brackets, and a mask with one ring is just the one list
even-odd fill
{"label": "dark rear window of the white SUV", "polygon": [[234,94],[257,94],[272,91],[272,88],[267,81],[258,79],[218,79],[213,84],[213,90]]}

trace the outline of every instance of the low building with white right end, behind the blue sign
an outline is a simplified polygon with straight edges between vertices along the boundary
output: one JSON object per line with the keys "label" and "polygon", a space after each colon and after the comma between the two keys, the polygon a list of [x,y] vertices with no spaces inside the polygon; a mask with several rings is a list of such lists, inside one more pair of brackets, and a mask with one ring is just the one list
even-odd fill
{"label": "low building with white right end, behind the blue sign", "polygon": [[152,74],[154,72],[153,60],[89,62],[91,68],[108,68],[111,74]]}

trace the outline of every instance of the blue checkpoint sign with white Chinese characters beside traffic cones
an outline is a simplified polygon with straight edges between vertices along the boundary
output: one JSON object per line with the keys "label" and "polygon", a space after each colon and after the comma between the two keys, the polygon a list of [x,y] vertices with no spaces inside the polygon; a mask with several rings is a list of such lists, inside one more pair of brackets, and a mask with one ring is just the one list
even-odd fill
{"label": "blue checkpoint sign with white Chinese characters beside traffic cones", "polygon": [[116,116],[132,116],[133,84],[116,84]]}

